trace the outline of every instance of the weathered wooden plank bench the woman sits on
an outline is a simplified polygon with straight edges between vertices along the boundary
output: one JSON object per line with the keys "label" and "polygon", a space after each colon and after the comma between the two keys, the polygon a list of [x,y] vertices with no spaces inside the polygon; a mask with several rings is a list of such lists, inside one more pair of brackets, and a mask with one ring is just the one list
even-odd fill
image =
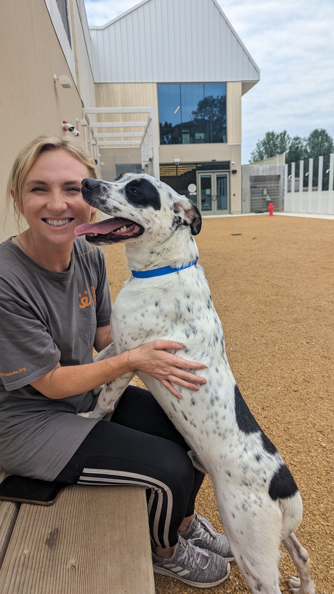
{"label": "weathered wooden plank bench the woman sits on", "polygon": [[0,565],[4,594],[154,594],[145,489],[71,485],[49,507],[0,501]]}

